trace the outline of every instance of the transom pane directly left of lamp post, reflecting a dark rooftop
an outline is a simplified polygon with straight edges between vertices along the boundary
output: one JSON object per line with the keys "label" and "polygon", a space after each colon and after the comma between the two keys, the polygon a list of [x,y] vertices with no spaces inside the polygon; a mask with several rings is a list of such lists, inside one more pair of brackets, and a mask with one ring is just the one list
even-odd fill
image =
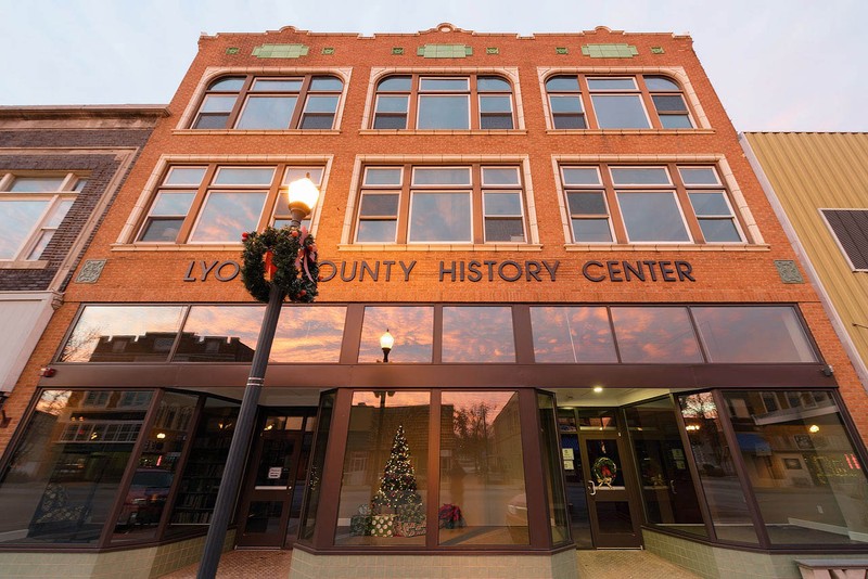
{"label": "transom pane directly left of lamp post, reflecting a dark rooftop", "polygon": [[264,307],[192,306],[175,362],[250,362]]}

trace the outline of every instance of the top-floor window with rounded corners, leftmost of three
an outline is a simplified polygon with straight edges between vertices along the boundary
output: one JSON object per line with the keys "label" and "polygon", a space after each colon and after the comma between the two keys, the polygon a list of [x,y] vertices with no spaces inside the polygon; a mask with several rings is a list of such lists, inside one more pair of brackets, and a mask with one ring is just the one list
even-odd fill
{"label": "top-floor window with rounded corners, leftmost of three", "polygon": [[283,130],[334,126],[344,82],[334,76],[228,76],[214,80],[192,128]]}

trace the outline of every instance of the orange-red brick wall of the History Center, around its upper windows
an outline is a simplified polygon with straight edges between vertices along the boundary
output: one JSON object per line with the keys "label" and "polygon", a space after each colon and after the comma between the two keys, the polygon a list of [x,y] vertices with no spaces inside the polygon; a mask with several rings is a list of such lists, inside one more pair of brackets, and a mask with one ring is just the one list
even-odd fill
{"label": "orange-red brick wall of the History Center, around its upper windows", "polygon": [[[200,39],[200,52],[169,104],[170,116],[161,120],[148,145],[130,172],[120,194],[98,232],[86,256],[87,259],[105,259],[106,266],[98,283],[72,283],[64,306],[54,317],[43,336],[33,361],[7,406],[8,414],[17,425],[37,385],[36,369],[48,363],[73,319],[80,303],[152,303],[152,301],[250,301],[240,279],[218,282],[213,274],[206,282],[184,282],[190,261],[238,260],[238,246],[213,250],[197,246],[167,245],[159,248],[133,244],[132,229],[125,224],[136,214],[142,191],[154,188],[161,176],[155,173],[163,156],[183,159],[214,159],[224,163],[244,163],[247,156],[264,158],[301,158],[305,155],[317,160],[331,158],[328,185],[323,190],[321,206],[317,209],[316,229],[321,259],[334,262],[354,260],[417,260],[418,265],[407,282],[394,275],[392,281],[370,279],[352,282],[340,281],[340,275],[320,285],[318,303],[383,301],[383,303],[473,303],[473,301],[532,301],[532,303],[787,303],[797,304],[825,361],[834,366],[834,381],[856,421],[863,436],[868,436],[868,414],[861,412],[868,397],[852,371],[846,356],[834,337],[816,295],[807,284],[784,284],[775,267],[775,260],[792,260],[793,252],[783,231],[763,194],[737,140],[723,104],[709,81],[692,40],[669,34],[624,34],[605,28],[580,34],[545,34],[516,37],[508,34],[472,34],[446,27],[447,31],[432,29],[416,35],[376,35],[359,37],[343,34],[314,34],[286,27],[265,34],[220,34]],[[626,57],[591,57],[583,54],[588,44],[625,43],[636,48],[637,54]],[[263,44],[304,44],[307,55],[298,59],[263,59],[253,55]],[[417,54],[424,44],[464,44],[472,55],[463,59],[426,59]],[[395,54],[403,48],[403,54]],[[562,54],[560,49],[566,48]],[[333,50],[326,50],[333,49]],[[497,49],[496,51],[488,49]],[[662,50],[661,50],[662,49]],[[496,53],[492,53],[496,52]],[[242,70],[261,74],[329,73],[341,68],[350,70],[350,79],[343,94],[342,111],[335,129],[329,131],[195,131],[189,119],[199,106],[204,80],[214,78],[219,70]],[[498,132],[476,131],[374,131],[362,125],[371,117],[373,100],[373,69],[438,72],[467,74],[469,72],[495,73],[512,68],[518,70],[520,90],[514,90],[520,101],[518,129]],[[690,130],[587,130],[559,131],[548,128],[545,108],[545,89],[540,77],[550,69],[565,72],[593,72],[596,74],[656,73],[661,69],[682,68],[703,116],[703,128]],[[187,125],[182,125],[186,119]],[[523,128],[522,128],[523,125]],[[347,215],[347,195],[358,191],[358,177],[354,167],[358,156],[381,156],[393,164],[414,160],[430,162],[443,156],[446,163],[478,160],[499,156],[526,158],[533,181],[538,241],[534,246],[511,246],[495,250],[492,246],[465,248],[433,247],[417,250],[412,246],[399,252],[388,246],[361,247],[342,240]],[[611,245],[600,247],[571,247],[565,239],[564,220],[559,208],[558,175],[553,159],[565,157],[588,162],[593,157],[623,163],[686,162],[717,158],[731,169],[750,214],[740,214],[742,226],[752,214],[762,235],[762,242],[743,246],[703,244],[666,245]],[[231,160],[224,160],[229,158]],[[725,166],[718,165],[718,170]],[[149,184],[150,182],[150,184]],[[561,201],[562,203],[562,201]],[[145,207],[146,209],[146,207]],[[755,230],[752,230],[755,231]],[[126,235],[126,237],[124,237]],[[753,235],[753,234],[752,234]],[[534,240],[532,240],[534,241]],[[754,242],[756,240],[754,239]],[[560,261],[557,282],[506,282],[494,275],[478,283],[451,282],[439,279],[439,262],[470,260],[525,260]],[[692,266],[694,282],[624,283],[602,281],[593,283],[582,275],[582,265],[588,260],[605,262],[637,260],[687,260]],[[193,271],[199,271],[195,266]],[[397,271],[397,267],[396,267]],[[50,385],[50,379],[43,381]],[[0,443],[7,442],[8,433],[0,432]]]}

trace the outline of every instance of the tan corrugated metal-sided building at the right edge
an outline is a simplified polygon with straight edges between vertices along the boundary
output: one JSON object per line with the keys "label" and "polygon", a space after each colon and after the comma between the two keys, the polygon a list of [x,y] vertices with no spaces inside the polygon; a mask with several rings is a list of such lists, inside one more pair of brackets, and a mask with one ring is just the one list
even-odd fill
{"label": "tan corrugated metal-sided building at the right edge", "polygon": [[868,388],[868,272],[824,209],[868,211],[868,133],[746,132],[742,146]]}

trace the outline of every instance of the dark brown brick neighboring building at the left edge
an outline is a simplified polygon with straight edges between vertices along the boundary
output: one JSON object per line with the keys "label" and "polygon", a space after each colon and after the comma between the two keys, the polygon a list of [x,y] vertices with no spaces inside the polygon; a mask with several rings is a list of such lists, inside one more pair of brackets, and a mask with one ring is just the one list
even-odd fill
{"label": "dark brown brick neighboring building at the left edge", "polygon": [[[163,106],[0,107],[0,406]],[[39,364],[50,357],[35,357]],[[0,448],[33,396],[5,406]]]}

